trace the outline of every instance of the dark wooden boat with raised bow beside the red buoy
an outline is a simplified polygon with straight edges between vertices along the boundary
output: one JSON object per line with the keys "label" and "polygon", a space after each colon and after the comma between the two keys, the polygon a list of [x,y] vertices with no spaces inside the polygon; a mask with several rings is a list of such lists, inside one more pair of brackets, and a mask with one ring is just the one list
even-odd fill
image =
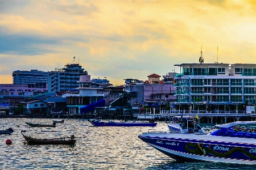
{"label": "dark wooden boat with raised bow beside the red buoy", "polygon": [[[25,131],[21,131],[25,132]],[[74,135],[71,137],[62,137],[62,138],[52,138],[52,139],[38,139],[26,136],[22,133],[23,137],[26,139],[28,145],[74,145],[76,139]]]}

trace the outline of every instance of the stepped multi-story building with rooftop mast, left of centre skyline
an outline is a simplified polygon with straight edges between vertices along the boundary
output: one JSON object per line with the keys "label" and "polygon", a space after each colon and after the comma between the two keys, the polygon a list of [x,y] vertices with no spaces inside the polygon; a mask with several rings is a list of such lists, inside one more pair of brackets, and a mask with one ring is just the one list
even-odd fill
{"label": "stepped multi-story building with rooftop mast, left of centre skyline", "polygon": [[50,71],[48,75],[48,92],[65,92],[79,87],[79,76],[88,73],[78,63],[68,63],[62,69]]}

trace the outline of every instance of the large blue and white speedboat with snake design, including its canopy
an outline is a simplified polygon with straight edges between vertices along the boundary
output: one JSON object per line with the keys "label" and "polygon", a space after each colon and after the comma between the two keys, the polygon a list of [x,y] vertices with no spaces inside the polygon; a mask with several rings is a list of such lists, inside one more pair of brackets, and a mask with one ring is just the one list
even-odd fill
{"label": "large blue and white speedboat with snake design, including its canopy", "polygon": [[212,133],[148,132],[139,138],[180,162],[256,164],[256,121],[216,125]]}

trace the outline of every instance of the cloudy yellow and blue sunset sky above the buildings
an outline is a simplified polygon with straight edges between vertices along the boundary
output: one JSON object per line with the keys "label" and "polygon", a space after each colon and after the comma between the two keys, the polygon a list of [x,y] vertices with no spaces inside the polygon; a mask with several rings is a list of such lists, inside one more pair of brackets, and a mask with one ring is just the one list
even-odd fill
{"label": "cloudy yellow and blue sunset sky above the buildings", "polygon": [[0,0],[1,84],[75,62],[119,86],[180,73],[201,49],[204,63],[256,63],[256,2]]}

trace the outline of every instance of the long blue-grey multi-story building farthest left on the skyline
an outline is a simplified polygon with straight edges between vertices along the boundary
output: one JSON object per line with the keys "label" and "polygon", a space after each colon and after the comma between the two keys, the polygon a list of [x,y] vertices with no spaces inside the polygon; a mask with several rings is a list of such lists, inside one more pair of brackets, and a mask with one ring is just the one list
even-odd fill
{"label": "long blue-grey multi-story building farthest left on the skyline", "polygon": [[13,84],[27,84],[28,87],[47,88],[48,73],[44,71],[14,71]]}

